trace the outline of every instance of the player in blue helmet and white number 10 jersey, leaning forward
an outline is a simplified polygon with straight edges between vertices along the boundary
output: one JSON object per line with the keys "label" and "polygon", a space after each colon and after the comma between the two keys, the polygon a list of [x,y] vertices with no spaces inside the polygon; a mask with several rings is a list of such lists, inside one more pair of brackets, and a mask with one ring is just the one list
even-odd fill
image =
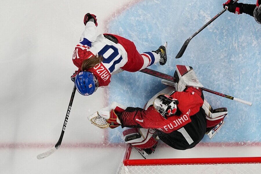
{"label": "player in blue helmet and white number 10 jersey, leaning forward", "polygon": [[119,68],[129,72],[142,70],[157,62],[166,64],[166,43],[156,51],[139,54],[134,43],[113,34],[96,36],[94,14],[84,16],[85,30],[73,53],[73,63],[79,69],[71,77],[81,95],[91,95],[98,87],[110,83],[111,74]]}

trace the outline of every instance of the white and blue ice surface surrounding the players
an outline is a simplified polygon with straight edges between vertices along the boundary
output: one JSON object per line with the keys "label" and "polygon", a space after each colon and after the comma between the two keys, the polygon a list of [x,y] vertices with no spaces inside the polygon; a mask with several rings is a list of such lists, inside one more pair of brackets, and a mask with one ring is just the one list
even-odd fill
{"label": "white and blue ice surface surrounding the players", "polygon": [[[252,1],[242,1],[252,3]],[[72,54],[87,12],[97,15],[98,33],[132,40],[140,52],[168,41],[168,62],[150,68],[173,75],[176,64],[192,66],[204,87],[253,102],[247,106],[204,93],[213,108],[228,116],[212,139],[188,151],[159,146],[152,157],[261,156],[261,25],[253,17],[225,12],[184,41],[222,10],[223,1],[6,1],[0,6],[0,173],[116,173],[125,151],[121,128],[100,130],[86,117],[115,101],[143,107],[165,88],[140,72],[119,73],[109,87],[84,97],[76,93],[61,147],[36,155],[57,142],[76,70]],[[214,153],[212,153],[212,147]],[[211,154],[211,155],[209,155]],[[167,156],[168,155],[168,156]]]}

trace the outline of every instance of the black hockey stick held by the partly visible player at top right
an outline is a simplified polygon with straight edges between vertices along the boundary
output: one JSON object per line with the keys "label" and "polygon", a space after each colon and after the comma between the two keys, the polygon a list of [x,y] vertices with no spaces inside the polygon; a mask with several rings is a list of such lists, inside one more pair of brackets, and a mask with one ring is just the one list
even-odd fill
{"label": "black hockey stick held by the partly visible player at top right", "polygon": [[[233,3],[236,3],[238,0],[235,0]],[[187,39],[183,46],[181,47],[180,51],[178,52],[178,54],[176,55],[176,59],[182,57],[182,55],[184,54],[187,46],[189,45],[190,40],[196,36],[198,33],[200,33],[204,28],[206,28],[210,23],[212,23],[215,19],[217,19],[221,14],[223,14],[226,11],[226,9],[223,9],[221,12],[219,12],[217,15],[215,15],[215,17],[213,17],[212,19],[210,19],[210,21],[208,21],[204,26],[202,26],[199,30],[197,30],[191,37],[189,37],[189,39]]]}

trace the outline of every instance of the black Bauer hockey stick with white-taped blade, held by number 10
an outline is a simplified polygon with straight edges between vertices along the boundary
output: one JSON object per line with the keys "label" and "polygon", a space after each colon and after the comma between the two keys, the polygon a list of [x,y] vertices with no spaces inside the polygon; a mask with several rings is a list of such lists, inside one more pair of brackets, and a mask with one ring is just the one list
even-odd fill
{"label": "black Bauer hockey stick with white-taped blade, held by number 10", "polygon": [[64,131],[65,131],[65,128],[66,128],[66,125],[67,125],[67,122],[68,122],[68,118],[69,118],[69,114],[70,114],[70,111],[71,111],[71,108],[72,108],[75,91],[76,91],[76,88],[75,88],[75,85],[74,85],[73,86],[73,92],[72,92],[71,99],[70,99],[70,103],[69,103],[69,106],[68,106],[68,109],[67,109],[67,112],[66,112],[63,129],[62,129],[62,132],[61,132],[61,135],[60,135],[58,142],[49,151],[37,155],[38,160],[41,160],[43,158],[46,158],[46,157],[52,155],[61,146],[61,142],[62,142],[63,137],[64,137]]}

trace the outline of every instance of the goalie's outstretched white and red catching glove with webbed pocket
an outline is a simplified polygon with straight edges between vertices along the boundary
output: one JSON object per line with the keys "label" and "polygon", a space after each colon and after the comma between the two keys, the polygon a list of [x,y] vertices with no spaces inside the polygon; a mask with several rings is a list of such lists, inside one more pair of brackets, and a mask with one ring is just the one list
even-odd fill
{"label": "goalie's outstretched white and red catching glove with webbed pocket", "polygon": [[125,106],[113,102],[110,106],[88,116],[88,120],[95,126],[102,129],[106,129],[108,127],[116,128],[121,125],[117,114],[121,114],[125,109]]}

